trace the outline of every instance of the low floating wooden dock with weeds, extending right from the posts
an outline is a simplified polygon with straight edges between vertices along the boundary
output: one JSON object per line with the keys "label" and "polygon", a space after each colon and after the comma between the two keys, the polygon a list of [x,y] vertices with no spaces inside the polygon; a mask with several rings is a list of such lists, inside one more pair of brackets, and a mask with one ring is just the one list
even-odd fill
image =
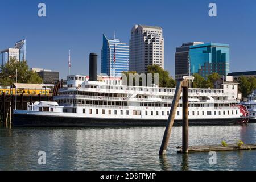
{"label": "low floating wooden dock with weeds, extending right from the posts", "polygon": [[[231,151],[231,150],[256,150],[256,144],[243,144],[238,147],[237,144],[228,144],[228,146],[221,145],[205,145],[205,146],[189,146],[188,153],[193,152],[209,152],[209,151]],[[182,153],[182,150],[177,151]]]}

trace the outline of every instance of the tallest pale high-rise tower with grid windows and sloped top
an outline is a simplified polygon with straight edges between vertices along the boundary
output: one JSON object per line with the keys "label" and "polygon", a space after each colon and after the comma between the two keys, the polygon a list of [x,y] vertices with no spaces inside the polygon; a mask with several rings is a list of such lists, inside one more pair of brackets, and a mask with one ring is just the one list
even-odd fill
{"label": "tallest pale high-rise tower with grid windows and sloped top", "polygon": [[130,71],[147,72],[148,65],[164,68],[164,38],[161,27],[136,24],[131,29]]}

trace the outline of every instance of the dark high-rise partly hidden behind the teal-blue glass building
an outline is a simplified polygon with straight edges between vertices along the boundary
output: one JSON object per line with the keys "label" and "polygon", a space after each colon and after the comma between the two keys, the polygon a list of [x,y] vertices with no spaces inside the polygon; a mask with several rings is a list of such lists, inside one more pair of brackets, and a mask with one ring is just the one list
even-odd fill
{"label": "dark high-rise partly hidden behind the teal-blue glass building", "polygon": [[204,44],[203,42],[183,43],[180,47],[176,47],[175,52],[175,79],[189,76],[189,47],[193,45]]}

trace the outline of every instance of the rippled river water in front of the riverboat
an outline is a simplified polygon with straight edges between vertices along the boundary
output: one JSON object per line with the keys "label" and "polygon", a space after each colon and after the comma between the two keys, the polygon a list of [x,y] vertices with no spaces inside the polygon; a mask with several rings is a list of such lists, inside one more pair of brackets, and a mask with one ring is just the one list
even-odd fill
{"label": "rippled river water in front of the riverboat", "polygon": [[[256,150],[177,154],[182,128],[172,129],[164,158],[158,152],[165,127],[0,127],[0,170],[256,170]],[[256,143],[256,123],[191,126],[189,145]],[[46,164],[38,164],[38,152]]]}

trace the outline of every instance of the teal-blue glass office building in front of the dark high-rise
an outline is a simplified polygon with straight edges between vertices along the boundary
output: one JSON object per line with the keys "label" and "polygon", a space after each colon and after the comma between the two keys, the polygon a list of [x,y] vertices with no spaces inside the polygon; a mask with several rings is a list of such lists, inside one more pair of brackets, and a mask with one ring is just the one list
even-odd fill
{"label": "teal-blue glass office building in front of the dark high-rise", "polygon": [[229,73],[229,44],[205,43],[189,47],[191,75],[207,78],[211,73]]}

